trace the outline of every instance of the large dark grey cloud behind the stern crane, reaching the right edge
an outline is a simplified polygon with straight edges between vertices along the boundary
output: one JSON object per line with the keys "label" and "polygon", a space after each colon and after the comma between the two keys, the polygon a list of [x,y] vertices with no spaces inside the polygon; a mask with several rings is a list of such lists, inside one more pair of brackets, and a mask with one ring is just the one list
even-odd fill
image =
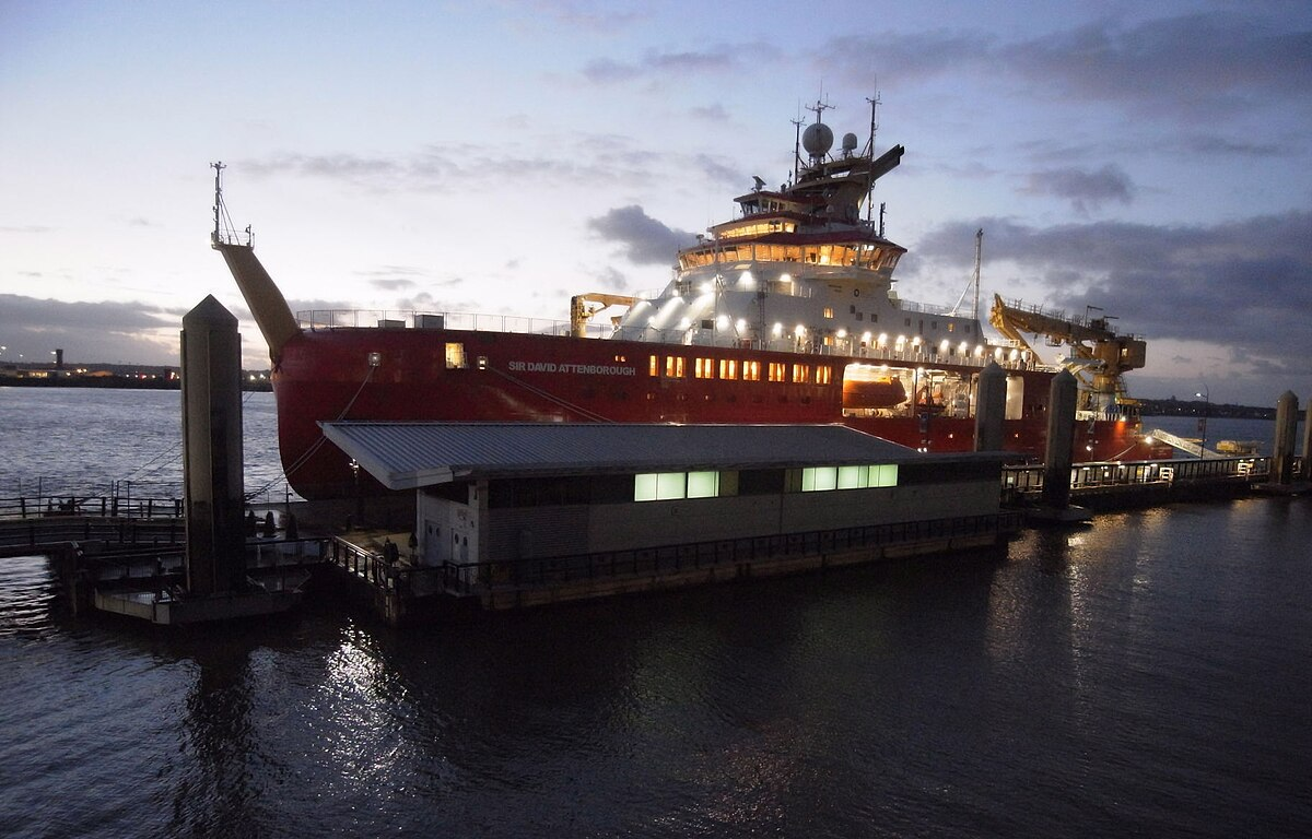
{"label": "large dark grey cloud behind the stern crane, reaching the right edge", "polygon": [[1043,300],[1027,303],[1073,313],[1101,305],[1119,316],[1124,330],[1145,334],[1149,353],[1153,340],[1204,342],[1253,372],[1307,376],[1312,211],[1181,227],[1097,222],[1043,228],[983,219],[942,225],[914,253],[959,271],[972,256],[962,243],[977,227],[985,235],[985,287],[1000,271],[1023,277],[1046,291]]}

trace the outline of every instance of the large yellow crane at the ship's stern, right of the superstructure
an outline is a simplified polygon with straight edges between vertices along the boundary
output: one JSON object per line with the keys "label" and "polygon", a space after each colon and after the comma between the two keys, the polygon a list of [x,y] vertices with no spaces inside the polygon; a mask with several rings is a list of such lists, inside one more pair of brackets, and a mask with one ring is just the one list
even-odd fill
{"label": "large yellow crane at the ship's stern, right of the superstructure", "polygon": [[989,312],[994,329],[1030,351],[1034,347],[1026,333],[1043,336],[1054,346],[1068,345],[1071,355],[1060,363],[1080,380],[1078,409],[1099,414],[1135,405],[1135,400],[1126,393],[1122,376],[1126,371],[1139,370],[1147,361],[1147,342],[1118,334],[1110,325],[1111,320],[1106,316],[1069,319],[1019,300],[1006,303],[998,295],[993,295]]}

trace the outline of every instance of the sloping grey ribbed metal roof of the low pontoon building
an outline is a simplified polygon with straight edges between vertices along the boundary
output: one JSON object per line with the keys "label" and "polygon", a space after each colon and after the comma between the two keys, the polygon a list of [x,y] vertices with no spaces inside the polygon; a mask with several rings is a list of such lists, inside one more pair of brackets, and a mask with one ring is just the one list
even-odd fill
{"label": "sloping grey ribbed metal roof of the low pontoon building", "polygon": [[762,469],[934,458],[841,425],[320,425],[329,440],[390,489],[457,477]]}

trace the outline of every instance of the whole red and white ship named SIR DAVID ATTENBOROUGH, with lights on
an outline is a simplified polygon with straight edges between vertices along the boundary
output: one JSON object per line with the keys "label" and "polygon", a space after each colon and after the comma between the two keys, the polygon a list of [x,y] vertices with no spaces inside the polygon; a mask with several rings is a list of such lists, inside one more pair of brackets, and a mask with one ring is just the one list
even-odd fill
{"label": "whole red and white ship named SIR DAVID ATTENBOROUGH, with lights on", "polygon": [[[794,164],[777,189],[756,177],[737,212],[673,254],[669,283],[626,296],[580,294],[568,321],[450,312],[312,311],[294,315],[249,235],[234,232],[215,168],[219,250],[269,345],[287,481],[306,498],[367,488],[320,422],[522,421],[845,423],[926,451],[974,444],[979,372],[1006,372],[1005,447],[1039,459],[1060,364],[1034,346],[1069,350],[1084,384],[1078,460],[1169,456],[1140,431],[1122,374],[1145,343],[1106,317],[1067,317],[996,298],[991,338],[979,316],[983,233],[974,294],[955,307],[901,296],[905,248],[874,212],[875,182],[901,146],[875,151],[846,134],[834,147],[828,106],[810,109]],[[249,233],[249,228],[247,228]],[[970,287],[968,287],[970,288]],[[1027,340],[1026,334],[1031,337]]]}

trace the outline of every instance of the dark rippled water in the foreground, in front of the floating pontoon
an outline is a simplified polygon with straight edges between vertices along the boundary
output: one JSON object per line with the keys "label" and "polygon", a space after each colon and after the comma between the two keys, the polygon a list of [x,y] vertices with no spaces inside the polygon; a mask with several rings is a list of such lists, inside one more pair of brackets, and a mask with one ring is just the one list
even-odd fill
{"label": "dark rippled water in the foreground, in front of the floating pontoon", "polygon": [[1312,499],[392,632],[0,560],[0,834],[1305,836]]}

